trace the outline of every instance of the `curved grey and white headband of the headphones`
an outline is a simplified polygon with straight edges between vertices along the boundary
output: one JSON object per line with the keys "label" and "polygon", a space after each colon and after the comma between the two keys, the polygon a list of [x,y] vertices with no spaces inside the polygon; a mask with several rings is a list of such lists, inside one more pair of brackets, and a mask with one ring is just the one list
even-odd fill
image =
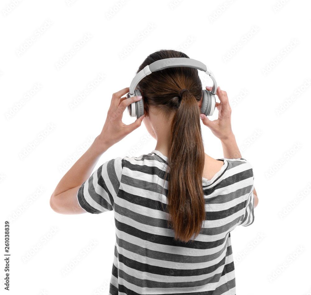
{"label": "curved grey and white headband of the headphones", "polygon": [[216,94],[217,83],[216,83],[213,73],[210,71],[210,69],[205,64],[192,58],[164,58],[164,59],[160,59],[160,60],[156,60],[155,62],[152,62],[150,65],[147,65],[141,71],[139,71],[137,75],[134,77],[130,85],[129,94],[131,95],[134,94],[134,90],[137,84],[147,75],[150,75],[153,72],[164,70],[170,67],[191,67],[197,70],[204,71],[213,80],[213,87],[211,90],[211,94],[213,95]]}

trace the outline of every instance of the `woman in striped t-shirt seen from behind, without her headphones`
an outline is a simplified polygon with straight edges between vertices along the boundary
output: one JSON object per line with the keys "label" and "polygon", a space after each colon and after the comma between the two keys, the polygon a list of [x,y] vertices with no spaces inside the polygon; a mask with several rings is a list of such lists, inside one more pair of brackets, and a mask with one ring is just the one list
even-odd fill
{"label": "woman in striped t-shirt seen from behind, without her headphones", "polygon": [[[150,54],[152,62],[184,57],[174,50]],[[224,158],[204,153],[202,84],[189,67],[153,72],[139,82],[143,97],[114,93],[103,130],[59,182],[50,206],[61,214],[114,210],[116,243],[109,294],[235,294],[230,232],[253,223],[258,203],[251,164],[241,157],[231,130],[231,108],[217,88],[217,120],[202,122],[217,136]],[[211,87],[206,87],[211,90]],[[181,90],[187,89],[188,91]],[[144,116],[122,123],[125,108],[143,99]],[[92,173],[109,147],[143,122],[155,150],[118,157]]]}

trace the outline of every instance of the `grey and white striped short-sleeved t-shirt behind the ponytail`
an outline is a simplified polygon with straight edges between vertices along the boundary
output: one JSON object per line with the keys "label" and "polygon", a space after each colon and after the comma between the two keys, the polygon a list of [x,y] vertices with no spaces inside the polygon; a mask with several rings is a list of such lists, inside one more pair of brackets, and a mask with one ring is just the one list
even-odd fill
{"label": "grey and white striped short-sleeved t-shirt behind the ponytail", "polygon": [[243,158],[217,159],[224,162],[220,171],[210,180],[202,177],[206,220],[201,233],[184,243],[174,241],[166,221],[167,160],[158,150],[118,157],[79,188],[77,199],[87,212],[114,211],[109,295],[235,295],[230,232],[254,221],[251,164]]}

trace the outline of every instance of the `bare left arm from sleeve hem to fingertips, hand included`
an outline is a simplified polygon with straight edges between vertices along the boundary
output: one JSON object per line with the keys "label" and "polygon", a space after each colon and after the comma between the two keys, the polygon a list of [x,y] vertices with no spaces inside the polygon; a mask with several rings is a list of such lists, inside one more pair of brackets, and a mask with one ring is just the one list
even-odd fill
{"label": "bare left arm from sleeve hem to fingertips, hand included", "polygon": [[86,211],[81,208],[77,200],[77,193],[82,183],[92,174],[92,171],[101,155],[123,139],[133,130],[141,126],[144,116],[137,118],[135,122],[125,125],[122,115],[128,105],[142,99],[142,96],[130,98],[121,97],[128,93],[129,87],[119,90],[112,95],[107,118],[100,135],[97,136],[88,150],[77,160],[77,162],[63,176],[55,188],[51,198],[51,208],[60,214],[81,214]]}

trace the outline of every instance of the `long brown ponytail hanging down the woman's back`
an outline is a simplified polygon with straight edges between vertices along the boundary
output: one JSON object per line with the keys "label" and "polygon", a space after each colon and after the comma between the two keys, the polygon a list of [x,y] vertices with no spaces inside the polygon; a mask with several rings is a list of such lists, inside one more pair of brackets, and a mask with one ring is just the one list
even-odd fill
{"label": "long brown ponytail hanging down the woman's back", "polygon": [[[199,116],[197,100],[184,91],[172,121],[166,206],[175,239],[182,242],[197,237],[206,214],[202,188],[205,154]],[[164,179],[167,173],[168,169]]]}

